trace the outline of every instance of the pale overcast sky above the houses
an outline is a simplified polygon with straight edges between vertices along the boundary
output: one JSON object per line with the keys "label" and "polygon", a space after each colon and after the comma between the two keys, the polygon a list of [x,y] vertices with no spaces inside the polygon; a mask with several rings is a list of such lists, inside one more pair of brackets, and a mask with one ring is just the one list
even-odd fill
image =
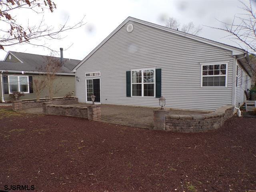
{"label": "pale overcast sky above the houses", "polygon": [[[181,24],[192,21],[195,25],[203,27],[199,36],[238,46],[228,38],[224,38],[226,36],[224,32],[206,27],[222,27],[216,19],[232,22],[234,14],[241,13],[239,7],[242,4],[238,0],[54,0],[54,2],[57,4],[54,13],[49,11],[44,13],[48,25],[58,28],[58,25],[63,24],[68,17],[68,24],[72,25],[86,15],[85,26],[63,33],[62,36],[66,36],[63,40],[46,42],[55,50],[59,50],[60,47],[65,49],[73,44],[64,51],[65,58],[82,60],[128,16],[160,25],[165,25],[162,18],[168,17],[176,18]],[[79,4],[70,2],[79,2]],[[37,24],[43,16],[27,9],[20,9],[12,14],[17,15],[20,23],[27,23],[29,19],[30,24]],[[6,47],[5,50],[50,54],[46,48],[31,45],[15,45]],[[6,52],[0,50],[0,60],[3,60],[5,55]]]}

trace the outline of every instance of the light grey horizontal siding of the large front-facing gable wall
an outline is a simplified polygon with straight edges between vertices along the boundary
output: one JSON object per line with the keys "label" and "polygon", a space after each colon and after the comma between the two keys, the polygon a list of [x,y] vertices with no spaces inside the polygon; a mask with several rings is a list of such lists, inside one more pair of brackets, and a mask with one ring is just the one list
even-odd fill
{"label": "light grey horizontal siding of the large front-facing gable wall", "polygon": [[[131,33],[126,26],[132,23]],[[86,102],[85,73],[100,72],[101,103],[158,107],[158,98],[126,97],[126,71],[162,69],[166,107],[213,111],[232,104],[232,52],[129,21],[76,69],[76,96]],[[200,62],[228,61],[227,87],[201,88]]]}

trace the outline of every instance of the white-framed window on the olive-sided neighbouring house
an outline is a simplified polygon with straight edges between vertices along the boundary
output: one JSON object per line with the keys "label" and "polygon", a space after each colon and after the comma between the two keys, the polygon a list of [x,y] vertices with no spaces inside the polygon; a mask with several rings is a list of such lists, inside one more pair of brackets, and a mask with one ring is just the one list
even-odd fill
{"label": "white-framed window on the olive-sided neighbouring house", "polygon": [[9,93],[24,92],[29,93],[28,76],[8,76],[9,78]]}

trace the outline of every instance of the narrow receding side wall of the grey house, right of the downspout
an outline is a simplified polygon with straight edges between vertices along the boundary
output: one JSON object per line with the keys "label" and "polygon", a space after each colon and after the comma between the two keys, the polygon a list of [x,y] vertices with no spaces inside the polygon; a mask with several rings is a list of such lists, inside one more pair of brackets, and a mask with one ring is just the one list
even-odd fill
{"label": "narrow receding side wall of the grey house, right of the downspout", "polygon": [[[238,107],[239,103],[242,106],[246,101],[246,96],[244,91],[250,89],[251,87],[251,78],[247,74],[247,72],[242,68],[239,61],[237,61],[238,66],[238,78],[237,78],[237,86],[236,86],[236,106]],[[247,76],[247,81],[246,81]],[[235,82],[236,83],[236,82]]]}

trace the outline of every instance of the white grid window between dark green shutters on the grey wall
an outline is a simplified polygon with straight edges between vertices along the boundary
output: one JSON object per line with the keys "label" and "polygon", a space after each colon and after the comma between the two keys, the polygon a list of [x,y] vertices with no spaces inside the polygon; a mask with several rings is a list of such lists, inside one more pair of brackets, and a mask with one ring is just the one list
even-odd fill
{"label": "white grid window between dark green shutters on the grey wall", "polygon": [[132,96],[155,96],[155,70],[132,71]]}

